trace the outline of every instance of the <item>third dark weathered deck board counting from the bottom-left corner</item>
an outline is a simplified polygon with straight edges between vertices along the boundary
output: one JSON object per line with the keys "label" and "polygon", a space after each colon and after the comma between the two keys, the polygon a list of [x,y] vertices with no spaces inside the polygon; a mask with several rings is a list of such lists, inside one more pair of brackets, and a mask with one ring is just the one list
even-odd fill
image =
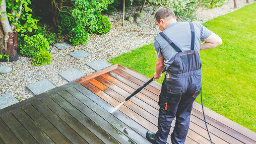
{"label": "third dark weathered deck board counting from the bottom-left corner", "polygon": [[54,143],[22,109],[14,110],[12,113],[39,143]]}

